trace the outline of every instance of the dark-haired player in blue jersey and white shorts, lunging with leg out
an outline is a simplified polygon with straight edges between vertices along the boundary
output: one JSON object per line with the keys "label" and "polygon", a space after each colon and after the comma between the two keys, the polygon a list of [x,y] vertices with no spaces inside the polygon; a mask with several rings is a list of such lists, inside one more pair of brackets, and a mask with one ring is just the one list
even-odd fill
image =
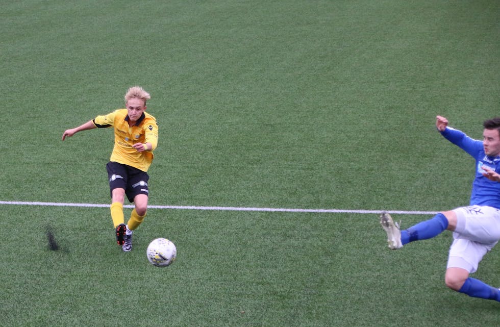
{"label": "dark-haired player in blue jersey and white shorts, lunging with leg out", "polygon": [[479,262],[500,240],[500,117],[483,123],[483,140],[448,127],[448,120],[436,117],[436,127],[444,138],[476,160],[469,206],[443,211],[407,230],[399,230],[392,217],[383,212],[380,223],[387,232],[389,248],[430,239],[444,230],[453,232],[445,283],[449,288],[472,297],[500,302],[500,290],[469,277]]}

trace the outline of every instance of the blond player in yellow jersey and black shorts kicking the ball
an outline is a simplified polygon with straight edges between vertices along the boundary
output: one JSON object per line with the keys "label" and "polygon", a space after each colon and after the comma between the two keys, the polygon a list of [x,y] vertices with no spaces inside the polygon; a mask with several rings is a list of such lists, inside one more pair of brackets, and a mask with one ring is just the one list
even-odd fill
{"label": "blond player in yellow jersey and black shorts kicking the ball", "polygon": [[[79,127],[64,131],[66,136],[95,128],[113,127],[115,145],[106,165],[111,190],[111,219],[116,241],[123,251],[132,250],[132,233],[146,216],[149,190],[147,169],[153,160],[153,150],[158,144],[156,118],[145,112],[149,93],[139,86],[131,87],[125,94],[126,109],[97,116]],[[124,224],[123,202],[125,195],[134,203],[134,210],[127,225]]]}

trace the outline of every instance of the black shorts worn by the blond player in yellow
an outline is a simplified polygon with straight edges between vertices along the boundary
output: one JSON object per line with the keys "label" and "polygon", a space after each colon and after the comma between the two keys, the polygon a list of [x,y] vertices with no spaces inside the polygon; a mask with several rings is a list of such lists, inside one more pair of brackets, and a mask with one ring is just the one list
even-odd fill
{"label": "black shorts worn by the blond player in yellow", "polygon": [[124,189],[130,202],[134,202],[134,197],[138,194],[149,195],[147,188],[149,175],[145,171],[114,161],[108,162],[106,170],[108,171],[111,197],[113,197],[115,188]]}

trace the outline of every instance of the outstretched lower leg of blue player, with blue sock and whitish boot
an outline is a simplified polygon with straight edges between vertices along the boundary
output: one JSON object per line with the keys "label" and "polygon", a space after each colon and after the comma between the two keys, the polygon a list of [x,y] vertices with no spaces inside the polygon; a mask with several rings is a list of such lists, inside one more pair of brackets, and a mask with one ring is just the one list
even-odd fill
{"label": "outstretched lower leg of blue player, with blue sock and whitish boot", "polygon": [[409,242],[433,238],[446,229],[455,229],[456,220],[457,217],[453,211],[446,211],[438,213],[429,220],[421,221],[408,230],[401,231],[399,225],[387,212],[380,215],[380,223],[387,233],[387,243],[391,249],[402,248]]}

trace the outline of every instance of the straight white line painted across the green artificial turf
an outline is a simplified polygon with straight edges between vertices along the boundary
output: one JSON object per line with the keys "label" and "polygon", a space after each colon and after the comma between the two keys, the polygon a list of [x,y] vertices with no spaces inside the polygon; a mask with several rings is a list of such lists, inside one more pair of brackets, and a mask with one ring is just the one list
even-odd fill
{"label": "straight white line painted across the green artificial turf", "polygon": [[[106,204],[89,203],[61,203],[61,202],[26,202],[26,201],[2,201],[0,205],[14,206],[43,206],[43,207],[84,207],[84,208],[109,208]],[[125,205],[124,208],[133,208],[133,205]],[[179,210],[216,210],[216,211],[266,211],[266,212],[299,212],[299,213],[359,213],[380,214],[387,211],[392,214],[407,215],[433,215],[436,211],[404,211],[404,210],[356,210],[356,209],[290,209],[290,208],[246,208],[246,207],[203,207],[203,206],[147,206],[149,209],[179,209]]]}

